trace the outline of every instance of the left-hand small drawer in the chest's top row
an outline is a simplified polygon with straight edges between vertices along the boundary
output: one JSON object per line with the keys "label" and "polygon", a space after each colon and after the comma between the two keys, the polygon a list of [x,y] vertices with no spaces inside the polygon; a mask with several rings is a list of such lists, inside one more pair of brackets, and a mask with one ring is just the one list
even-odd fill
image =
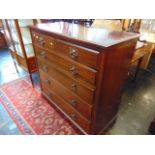
{"label": "left-hand small drawer in the chest's top row", "polygon": [[55,41],[54,38],[37,33],[32,32],[33,42],[41,47],[54,49]]}

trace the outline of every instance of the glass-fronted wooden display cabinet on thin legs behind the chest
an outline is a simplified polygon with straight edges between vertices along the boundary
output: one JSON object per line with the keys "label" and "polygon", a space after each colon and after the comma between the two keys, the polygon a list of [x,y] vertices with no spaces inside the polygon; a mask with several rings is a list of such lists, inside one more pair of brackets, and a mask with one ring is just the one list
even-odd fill
{"label": "glass-fronted wooden display cabinet on thin legs behind the chest", "polygon": [[28,71],[31,82],[32,73],[37,71],[36,59],[28,25],[36,24],[32,19],[3,19],[5,38],[16,64]]}

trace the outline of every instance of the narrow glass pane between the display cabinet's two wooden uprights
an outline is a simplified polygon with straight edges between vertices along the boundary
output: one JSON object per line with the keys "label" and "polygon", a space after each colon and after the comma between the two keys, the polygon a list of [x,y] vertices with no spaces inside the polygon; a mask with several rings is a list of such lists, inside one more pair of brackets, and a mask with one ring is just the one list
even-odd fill
{"label": "narrow glass pane between the display cabinet's two wooden uprights", "polygon": [[8,25],[10,27],[10,31],[11,31],[11,35],[12,35],[12,39],[15,45],[16,52],[18,55],[24,57],[21,44],[20,44],[20,38],[19,38],[16,26],[15,26],[15,21],[13,19],[8,19]]}

